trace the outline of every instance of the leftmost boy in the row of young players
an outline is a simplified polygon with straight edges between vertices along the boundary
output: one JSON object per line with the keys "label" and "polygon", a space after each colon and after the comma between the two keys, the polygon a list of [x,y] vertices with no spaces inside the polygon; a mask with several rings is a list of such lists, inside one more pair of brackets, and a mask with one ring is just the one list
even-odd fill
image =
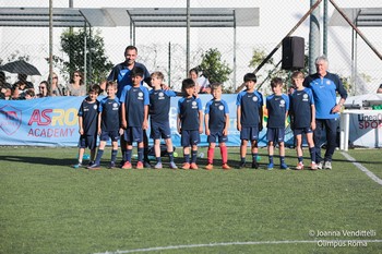
{"label": "leftmost boy in the row of young players", "polygon": [[97,147],[97,128],[98,128],[98,107],[99,101],[97,97],[100,88],[98,85],[92,85],[88,88],[87,97],[82,101],[79,109],[79,164],[73,168],[77,169],[82,167],[82,159],[85,153],[85,148],[91,149],[91,161],[88,166],[94,164],[95,152]]}

